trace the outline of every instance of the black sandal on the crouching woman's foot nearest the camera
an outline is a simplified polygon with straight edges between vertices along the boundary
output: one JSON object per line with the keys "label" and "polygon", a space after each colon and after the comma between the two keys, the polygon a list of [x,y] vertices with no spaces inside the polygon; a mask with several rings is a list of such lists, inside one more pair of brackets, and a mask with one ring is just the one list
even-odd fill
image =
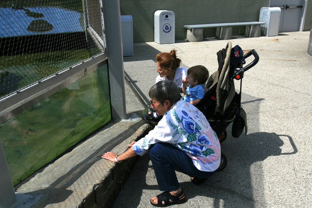
{"label": "black sandal on the crouching woman's foot nearest the camera", "polygon": [[[150,202],[153,206],[158,206],[158,207],[165,207],[165,206],[169,206],[172,204],[182,204],[185,202],[185,196],[183,195],[183,190],[181,191],[181,193],[179,193],[176,196],[171,195],[169,191],[165,191],[161,194],[158,194],[156,197],[158,200],[157,204],[155,204],[154,200],[152,199],[150,199]],[[165,202],[164,204],[163,204],[163,201]]]}

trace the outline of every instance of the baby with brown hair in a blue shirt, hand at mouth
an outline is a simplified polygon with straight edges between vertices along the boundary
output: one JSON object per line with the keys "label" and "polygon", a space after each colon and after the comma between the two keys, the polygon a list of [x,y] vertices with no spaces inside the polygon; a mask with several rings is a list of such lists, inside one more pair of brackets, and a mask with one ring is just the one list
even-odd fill
{"label": "baby with brown hair in a blue shirt, hand at mouth", "polygon": [[[205,86],[209,72],[202,65],[192,66],[188,69],[188,76],[182,81],[184,101],[196,105],[205,94]],[[188,86],[189,85],[189,86]]]}

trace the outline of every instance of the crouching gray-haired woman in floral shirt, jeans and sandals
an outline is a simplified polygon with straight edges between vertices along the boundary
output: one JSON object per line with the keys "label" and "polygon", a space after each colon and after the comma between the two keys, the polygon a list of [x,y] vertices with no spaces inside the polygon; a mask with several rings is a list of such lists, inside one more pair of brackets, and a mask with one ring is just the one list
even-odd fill
{"label": "crouching gray-haired woman in floral shirt, jeans and sandals", "polygon": [[157,82],[149,90],[153,107],[163,118],[144,138],[131,143],[121,155],[113,152],[102,158],[121,162],[149,150],[158,187],[163,193],[150,199],[154,206],[169,206],[185,201],[175,171],[185,173],[200,184],[217,172],[221,148],[216,133],[205,116],[183,101],[178,86],[169,80]]}

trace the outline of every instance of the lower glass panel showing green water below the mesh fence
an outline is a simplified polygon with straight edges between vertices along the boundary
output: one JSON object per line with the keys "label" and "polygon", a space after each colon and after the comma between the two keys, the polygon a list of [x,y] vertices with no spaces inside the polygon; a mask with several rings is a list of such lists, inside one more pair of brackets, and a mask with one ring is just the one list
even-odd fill
{"label": "lower glass panel showing green water below the mesh fence", "polygon": [[13,184],[111,120],[107,65],[0,125]]}

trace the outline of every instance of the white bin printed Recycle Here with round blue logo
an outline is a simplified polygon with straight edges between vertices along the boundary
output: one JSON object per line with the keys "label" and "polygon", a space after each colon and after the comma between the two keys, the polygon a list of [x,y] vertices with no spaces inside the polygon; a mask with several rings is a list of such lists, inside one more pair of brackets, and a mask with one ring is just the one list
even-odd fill
{"label": "white bin printed Recycle Here with round blue logo", "polygon": [[157,10],[154,13],[154,41],[159,44],[174,43],[174,12]]}

